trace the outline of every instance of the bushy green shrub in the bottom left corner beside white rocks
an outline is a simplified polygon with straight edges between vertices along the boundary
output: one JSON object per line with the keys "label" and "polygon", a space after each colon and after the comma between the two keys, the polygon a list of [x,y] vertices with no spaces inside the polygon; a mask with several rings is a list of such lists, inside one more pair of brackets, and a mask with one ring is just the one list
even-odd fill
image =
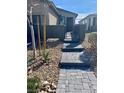
{"label": "bushy green shrub in the bottom left corner beside white rocks", "polygon": [[40,79],[38,77],[27,78],[27,93],[37,93]]}

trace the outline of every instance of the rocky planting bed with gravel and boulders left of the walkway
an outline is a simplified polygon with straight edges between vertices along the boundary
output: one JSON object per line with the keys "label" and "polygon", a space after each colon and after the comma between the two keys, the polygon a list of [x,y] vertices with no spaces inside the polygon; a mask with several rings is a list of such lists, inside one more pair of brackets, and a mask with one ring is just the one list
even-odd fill
{"label": "rocky planting bed with gravel and boulders left of the walkway", "polygon": [[[54,93],[58,81],[59,68],[58,64],[61,59],[61,48],[62,42],[53,41],[47,42],[47,49],[41,49],[41,55],[37,55],[36,60],[32,60],[33,58],[33,50],[27,51],[27,78],[37,77],[39,79],[38,88],[35,89],[37,91],[46,91],[43,93]],[[39,50],[37,49],[37,53],[39,54]],[[32,64],[33,63],[33,64]],[[29,90],[30,82],[29,83]],[[28,93],[37,93],[28,92]]]}

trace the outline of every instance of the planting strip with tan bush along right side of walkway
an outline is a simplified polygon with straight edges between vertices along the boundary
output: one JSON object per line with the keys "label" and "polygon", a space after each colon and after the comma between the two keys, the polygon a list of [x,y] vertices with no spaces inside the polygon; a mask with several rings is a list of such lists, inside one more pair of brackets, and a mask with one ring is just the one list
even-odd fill
{"label": "planting strip with tan bush along right side of walkway", "polygon": [[85,55],[89,57],[91,70],[97,73],[97,33],[86,33],[82,46],[85,48]]}

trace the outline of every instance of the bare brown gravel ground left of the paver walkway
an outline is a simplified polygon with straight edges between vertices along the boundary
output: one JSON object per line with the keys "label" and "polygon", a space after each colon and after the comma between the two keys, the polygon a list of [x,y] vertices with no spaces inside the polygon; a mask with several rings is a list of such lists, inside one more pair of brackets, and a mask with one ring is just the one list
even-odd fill
{"label": "bare brown gravel ground left of the paver walkway", "polygon": [[[54,44],[55,43],[55,44]],[[47,43],[48,48],[46,50],[49,51],[49,58],[50,62],[48,65],[43,64],[37,70],[33,71],[28,77],[37,76],[40,78],[41,81],[47,80],[48,82],[54,82],[57,84],[58,75],[59,75],[59,68],[58,64],[61,59],[61,48],[62,42],[50,42]],[[41,50],[42,53],[43,49]],[[39,51],[37,50],[37,53]],[[39,57],[41,58],[41,57]],[[27,51],[27,60],[32,59],[32,50]],[[39,61],[42,61],[41,59]]]}

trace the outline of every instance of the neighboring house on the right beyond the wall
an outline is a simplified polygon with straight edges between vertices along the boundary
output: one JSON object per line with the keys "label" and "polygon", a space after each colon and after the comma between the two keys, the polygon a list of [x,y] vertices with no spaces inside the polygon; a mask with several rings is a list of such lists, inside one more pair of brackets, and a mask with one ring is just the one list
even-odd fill
{"label": "neighboring house on the right beyond the wall", "polygon": [[79,21],[79,24],[84,24],[86,26],[86,32],[96,32],[97,31],[97,14],[90,14],[87,17]]}

